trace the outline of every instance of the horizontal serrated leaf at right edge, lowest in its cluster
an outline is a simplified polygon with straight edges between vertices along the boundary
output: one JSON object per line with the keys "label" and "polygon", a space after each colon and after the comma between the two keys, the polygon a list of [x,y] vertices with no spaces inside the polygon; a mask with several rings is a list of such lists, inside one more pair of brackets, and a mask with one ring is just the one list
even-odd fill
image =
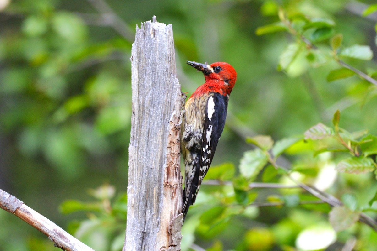
{"label": "horizontal serrated leaf at right edge, lowest in its cluster", "polygon": [[374,170],[374,162],[368,157],[348,157],[340,161],[335,168],[339,172],[364,174]]}

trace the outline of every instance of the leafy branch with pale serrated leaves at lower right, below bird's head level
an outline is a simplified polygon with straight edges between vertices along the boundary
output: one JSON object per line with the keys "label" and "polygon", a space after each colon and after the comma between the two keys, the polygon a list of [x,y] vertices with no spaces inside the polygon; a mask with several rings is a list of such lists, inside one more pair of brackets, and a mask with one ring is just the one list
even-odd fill
{"label": "leafy branch with pale serrated leaves at lower right, below bird's head level", "polygon": [[[339,161],[336,170],[339,172],[348,172],[351,174],[366,173],[376,171],[376,163],[368,157],[371,154],[377,153],[377,137],[374,135],[367,135],[366,131],[349,133],[345,129],[339,127],[340,112],[337,110],[333,118],[334,128],[327,127],[322,123],[311,127],[304,133],[304,139],[307,141],[326,140],[334,138],[342,146],[342,148],[325,147],[318,151],[314,151],[314,156],[317,154],[329,152],[348,152],[352,157],[346,157]],[[377,231],[377,222],[370,218],[361,210],[349,209],[342,201],[334,196],[320,191],[315,186],[309,186],[295,179],[291,175],[291,171],[277,164],[277,158],[280,154],[288,148],[293,147],[294,144],[301,141],[299,138],[283,139],[276,143],[270,136],[259,135],[248,138],[247,142],[256,145],[256,149],[248,151],[244,154],[240,164],[241,174],[247,178],[248,181],[253,181],[264,166],[270,164],[280,174],[285,175],[297,186],[309,192],[314,197],[333,207],[329,216],[330,223],[334,229],[339,231],[351,226],[354,222],[360,221],[367,224],[369,227]],[[322,142],[331,146],[333,143]],[[376,201],[373,198],[369,205]],[[267,204],[270,205],[270,204]],[[272,204],[271,204],[272,205]],[[339,214],[344,214],[349,217],[339,217]]]}

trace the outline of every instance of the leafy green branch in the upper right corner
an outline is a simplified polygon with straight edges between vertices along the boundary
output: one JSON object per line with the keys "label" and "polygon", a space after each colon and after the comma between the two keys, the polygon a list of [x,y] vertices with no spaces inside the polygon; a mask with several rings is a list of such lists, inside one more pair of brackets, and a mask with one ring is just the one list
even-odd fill
{"label": "leafy green branch in the upper right corner", "polygon": [[[303,47],[309,51],[309,54],[307,54],[307,60],[314,66],[325,64],[327,62],[327,54],[320,51],[319,47],[313,42],[319,42],[331,38],[330,44],[332,50],[329,55],[343,68],[330,71],[327,80],[333,81],[357,74],[369,83],[377,86],[377,80],[340,59],[340,57],[350,57],[354,59],[371,60],[373,53],[371,48],[367,45],[356,44],[341,49],[343,36],[342,34],[336,34],[333,36],[333,27],[335,26],[334,21],[325,18],[309,19],[304,15],[294,15],[293,17],[288,18],[282,8],[279,9],[278,16],[280,22],[259,27],[256,30],[256,34],[264,35],[282,30],[288,31],[299,41],[303,42],[305,45]],[[309,36],[309,38],[304,34]],[[288,45],[288,48],[280,56],[280,70],[289,70],[289,67],[299,55],[301,48],[302,46],[300,46],[299,43]]]}

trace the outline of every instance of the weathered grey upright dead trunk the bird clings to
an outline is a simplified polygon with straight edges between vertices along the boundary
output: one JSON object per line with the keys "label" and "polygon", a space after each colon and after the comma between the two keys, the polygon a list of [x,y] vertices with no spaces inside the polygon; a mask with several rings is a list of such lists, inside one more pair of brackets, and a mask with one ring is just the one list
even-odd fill
{"label": "weathered grey upright dead trunk the bird clings to", "polygon": [[[132,116],[123,251],[180,250],[181,86],[176,79],[172,25],[136,26],[132,45]],[[172,222],[176,226],[179,217]],[[174,231],[174,232],[173,232]],[[179,232],[179,234],[177,233]]]}

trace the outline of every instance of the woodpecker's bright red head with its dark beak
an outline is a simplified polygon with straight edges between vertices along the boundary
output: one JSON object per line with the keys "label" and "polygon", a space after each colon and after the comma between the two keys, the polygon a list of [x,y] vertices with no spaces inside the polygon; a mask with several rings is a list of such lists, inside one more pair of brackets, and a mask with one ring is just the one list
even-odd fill
{"label": "woodpecker's bright red head with its dark beak", "polygon": [[[234,68],[225,62],[216,62],[210,65],[187,61],[195,69],[202,71],[205,77],[205,84],[201,86],[200,92],[216,91],[223,95],[230,94],[236,83],[237,73]],[[195,92],[197,92],[195,91]],[[193,95],[195,94],[193,93]]]}

